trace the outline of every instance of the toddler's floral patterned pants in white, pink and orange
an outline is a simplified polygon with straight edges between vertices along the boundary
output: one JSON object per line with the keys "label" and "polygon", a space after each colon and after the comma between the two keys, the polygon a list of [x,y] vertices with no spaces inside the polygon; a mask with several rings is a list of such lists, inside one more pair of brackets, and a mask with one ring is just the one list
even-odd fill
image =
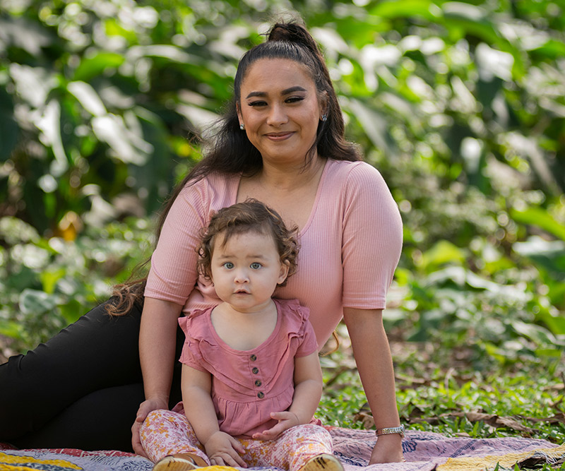
{"label": "toddler's floral patterned pants in white, pink and orange", "polygon": [[[210,465],[204,447],[184,414],[171,410],[154,410],[143,422],[140,434],[145,453],[154,463],[166,455],[193,453]],[[330,434],[315,424],[291,427],[278,439],[270,441],[237,439],[245,450],[242,458],[249,467],[276,466],[297,471],[309,458],[321,453],[332,453]]]}

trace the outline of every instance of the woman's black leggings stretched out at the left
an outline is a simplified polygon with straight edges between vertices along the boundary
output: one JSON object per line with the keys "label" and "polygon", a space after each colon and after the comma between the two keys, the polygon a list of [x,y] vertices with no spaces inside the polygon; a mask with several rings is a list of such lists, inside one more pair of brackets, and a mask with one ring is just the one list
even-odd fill
{"label": "woman's black leggings stretched out at the left", "polygon": [[[18,448],[131,451],[144,400],[141,307],[110,317],[105,304],[25,355],[0,365],[0,441]],[[184,334],[177,330],[177,359]],[[169,405],[180,398],[175,362]]]}

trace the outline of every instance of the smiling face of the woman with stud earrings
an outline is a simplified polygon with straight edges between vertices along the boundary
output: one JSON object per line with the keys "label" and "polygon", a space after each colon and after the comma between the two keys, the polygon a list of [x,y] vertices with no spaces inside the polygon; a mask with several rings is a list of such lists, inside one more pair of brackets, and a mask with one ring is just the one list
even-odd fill
{"label": "smiling face of the woman with stud earrings", "polygon": [[242,81],[237,114],[263,163],[303,165],[326,109],[314,81],[290,59],[259,59]]}

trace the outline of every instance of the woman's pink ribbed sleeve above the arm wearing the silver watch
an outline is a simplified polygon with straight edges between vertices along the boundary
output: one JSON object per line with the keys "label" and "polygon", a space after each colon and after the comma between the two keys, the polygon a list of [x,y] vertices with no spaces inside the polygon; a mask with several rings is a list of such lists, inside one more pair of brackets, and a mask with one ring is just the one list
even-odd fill
{"label": "woman's pink ribbed sleeve above the arm wearing the silver watch", "polygon": [[379,171],[364,162],[347,175],[343,198],[343,306],[384,309],[402,250],[398,206]]}

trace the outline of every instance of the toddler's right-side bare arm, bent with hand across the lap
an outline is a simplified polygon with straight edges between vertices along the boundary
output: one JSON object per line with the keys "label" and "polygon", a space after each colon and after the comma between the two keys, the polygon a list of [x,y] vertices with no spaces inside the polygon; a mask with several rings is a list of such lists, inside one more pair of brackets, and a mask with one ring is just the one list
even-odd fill
{"label": "toddler's right-side bare arm, bent with hand across the lap", "polygon": [[283,431],[299,424],[308,424],[318,408],[322,395],[322,371],[318,352],[295,358],[295,395],[287,411],[271,412],[278,424],[253,435],[257,440],[272,440]]}

